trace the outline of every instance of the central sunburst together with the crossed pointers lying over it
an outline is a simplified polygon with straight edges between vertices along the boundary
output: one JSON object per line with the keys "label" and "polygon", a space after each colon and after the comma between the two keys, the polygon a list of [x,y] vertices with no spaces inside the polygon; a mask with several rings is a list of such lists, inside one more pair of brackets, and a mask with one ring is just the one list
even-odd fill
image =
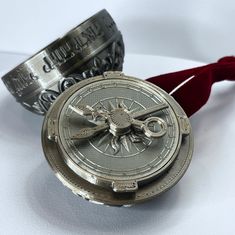
{"label": "central sunburst together with the crossed pointers lying over it", "polygon": [[152,138],[166,134],[165,121],[149,116],[167,107],[162,103],[146,109],[135,100],[123,97],[109,97],[93,106],[70,106],[74,112],[96,124],[81,129],[71,139],[89,139],[97,151],[113,157],[126,157],[130,153],[133,156],[144,151]]}

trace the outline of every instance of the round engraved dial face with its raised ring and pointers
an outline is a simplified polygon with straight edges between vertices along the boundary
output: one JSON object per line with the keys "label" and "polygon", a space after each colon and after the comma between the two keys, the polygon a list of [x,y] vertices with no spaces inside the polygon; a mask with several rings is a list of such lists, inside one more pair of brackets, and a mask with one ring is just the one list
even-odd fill
{"label": "round engraved dial face with its raised ring and pointers", "polygon": [[107,187],[115,180],[142,182],[159,175],[181,139],[167,100],[123,78],[75,92],[61,111],[59,137],[71,169]]}

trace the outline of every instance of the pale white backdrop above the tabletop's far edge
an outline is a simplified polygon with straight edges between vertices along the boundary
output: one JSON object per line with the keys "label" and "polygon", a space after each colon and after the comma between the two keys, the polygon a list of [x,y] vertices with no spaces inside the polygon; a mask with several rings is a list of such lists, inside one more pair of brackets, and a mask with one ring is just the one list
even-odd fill
{"label": "pale white backdrop above the tabletop's far edge", "polygon": [[235,53],[234,0],[0,0],[0,51],[32,54],[102,8],[128,53],[214,61]]}

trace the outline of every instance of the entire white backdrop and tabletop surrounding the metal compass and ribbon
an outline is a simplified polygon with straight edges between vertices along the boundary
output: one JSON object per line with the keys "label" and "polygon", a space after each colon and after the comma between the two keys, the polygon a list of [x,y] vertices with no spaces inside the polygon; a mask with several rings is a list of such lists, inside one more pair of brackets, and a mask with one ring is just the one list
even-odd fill
{"label": "entire white backdrop and tabletop surrounding the metal compass and ribbon", "polygon": [[[2,1],[2,0],[1,0]],[[233,1],[2,1],[0,51],[32,54],[106,8],[123,33],[124,71],[148,76],[235,53]],[[25,56],[0,54],[0,76]],[[132,208],[74,196],[56,179],[41,144],[42,117],[0,84],[0,234],[233,234],[235,231],[235,87],[214,86],[192,118],[195,152],[169,192]]]}

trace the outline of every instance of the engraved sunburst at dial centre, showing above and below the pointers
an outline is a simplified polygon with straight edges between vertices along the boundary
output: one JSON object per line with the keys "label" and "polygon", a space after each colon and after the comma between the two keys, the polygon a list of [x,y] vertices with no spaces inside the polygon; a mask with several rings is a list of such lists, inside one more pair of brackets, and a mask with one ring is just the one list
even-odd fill
{"label": "engraved sunburst at dial centre, showing above and below the pointers", "polygon": [[[129,115],[120,112],[122,109],[129,113],[142,110],[144,107],[133,99],[125,97],[109,97],[95,103],[94,108],[111,112],[112,124],[128,125]],[[119,111],[120,110],[120,111]],[[116,115],[115,115],[116,111]],[[119,112],[118,112],[119,111]],[[106,130],[89,140],[90,144],[100,153],[111,157],[129,157],[144,151],[152,142],[151,138],[137,130],[130,130],[120,136],[115,136]]]}

